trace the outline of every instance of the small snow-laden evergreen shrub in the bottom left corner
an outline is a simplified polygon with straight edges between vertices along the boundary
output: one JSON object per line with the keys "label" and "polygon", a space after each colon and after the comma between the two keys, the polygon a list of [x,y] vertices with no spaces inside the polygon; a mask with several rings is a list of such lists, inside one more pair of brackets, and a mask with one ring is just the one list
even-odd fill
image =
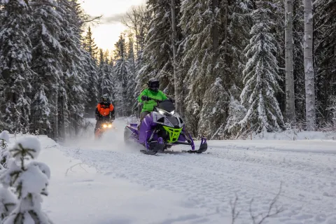
{"label": "small snow-laden evergreen shrub in the bottom left corner", "polygon": [[8,169],[0,173],[4,188],[13,188],[18,196],[18,204],[4,218],[3,224],[12,223],[52,223],[41,209],[41,195],[48,195],[50,169],[35,159],[41,151],[36,137],[20,139],[10,149]]}

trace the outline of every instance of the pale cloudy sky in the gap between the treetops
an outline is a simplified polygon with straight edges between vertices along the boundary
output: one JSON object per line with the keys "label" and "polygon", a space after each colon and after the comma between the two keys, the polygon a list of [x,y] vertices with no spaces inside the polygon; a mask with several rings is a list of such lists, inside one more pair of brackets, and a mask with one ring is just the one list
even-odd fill
{"label": "pale cloudy sky in the gap between the treetops", "polygon": [[92,16],[103,15],[99,25],[92,25],[94,41],[99,48],[113,50],[120,33],[125,31],[121,18],[132,6],[139,6],[146,0],[80,0],[85,12]]}

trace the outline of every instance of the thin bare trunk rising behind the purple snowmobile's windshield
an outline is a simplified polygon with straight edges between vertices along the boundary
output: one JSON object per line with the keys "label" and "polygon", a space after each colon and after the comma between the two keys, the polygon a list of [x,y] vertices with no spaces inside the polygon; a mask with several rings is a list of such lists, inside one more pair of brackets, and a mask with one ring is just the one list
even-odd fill
{"label": "thin bare trunk rising behind the purple snowmobile's windshield", "polygon": [[176,49],[176,13],[175,13],[175,0],[171,1],[171,10],[172,10],[172,47],[173,47],[173,66],[174,66],[174,98],[175,98],[175,108],[176,111],[181,112],[180,109],[180,97],[179,97],[179,78],[177,76],[177,62],[176,62],[176,55],[177,55],[177,49]]}

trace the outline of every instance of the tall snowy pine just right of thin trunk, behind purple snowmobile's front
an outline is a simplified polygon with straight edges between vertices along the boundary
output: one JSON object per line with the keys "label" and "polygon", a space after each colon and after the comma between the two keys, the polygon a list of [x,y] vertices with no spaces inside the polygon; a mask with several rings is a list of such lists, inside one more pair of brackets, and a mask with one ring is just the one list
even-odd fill
{"label": "tall snowy pine just right of thin trunk, behind purple snowmobile's front", "polygon": [[[213,62],[211,34],[214,15],[209,7],[208,1],[186,0],[181,4],[180,26],[185,36],[182,66],[188,69],[185,81],[189,86],[186,96],[186,120],[188,130],[194,135],[200,130],[200,112],[204,94],[210,84],[207,82],[211,76],[209,68]],[[207,132],[207,130],[202,131]]]}

